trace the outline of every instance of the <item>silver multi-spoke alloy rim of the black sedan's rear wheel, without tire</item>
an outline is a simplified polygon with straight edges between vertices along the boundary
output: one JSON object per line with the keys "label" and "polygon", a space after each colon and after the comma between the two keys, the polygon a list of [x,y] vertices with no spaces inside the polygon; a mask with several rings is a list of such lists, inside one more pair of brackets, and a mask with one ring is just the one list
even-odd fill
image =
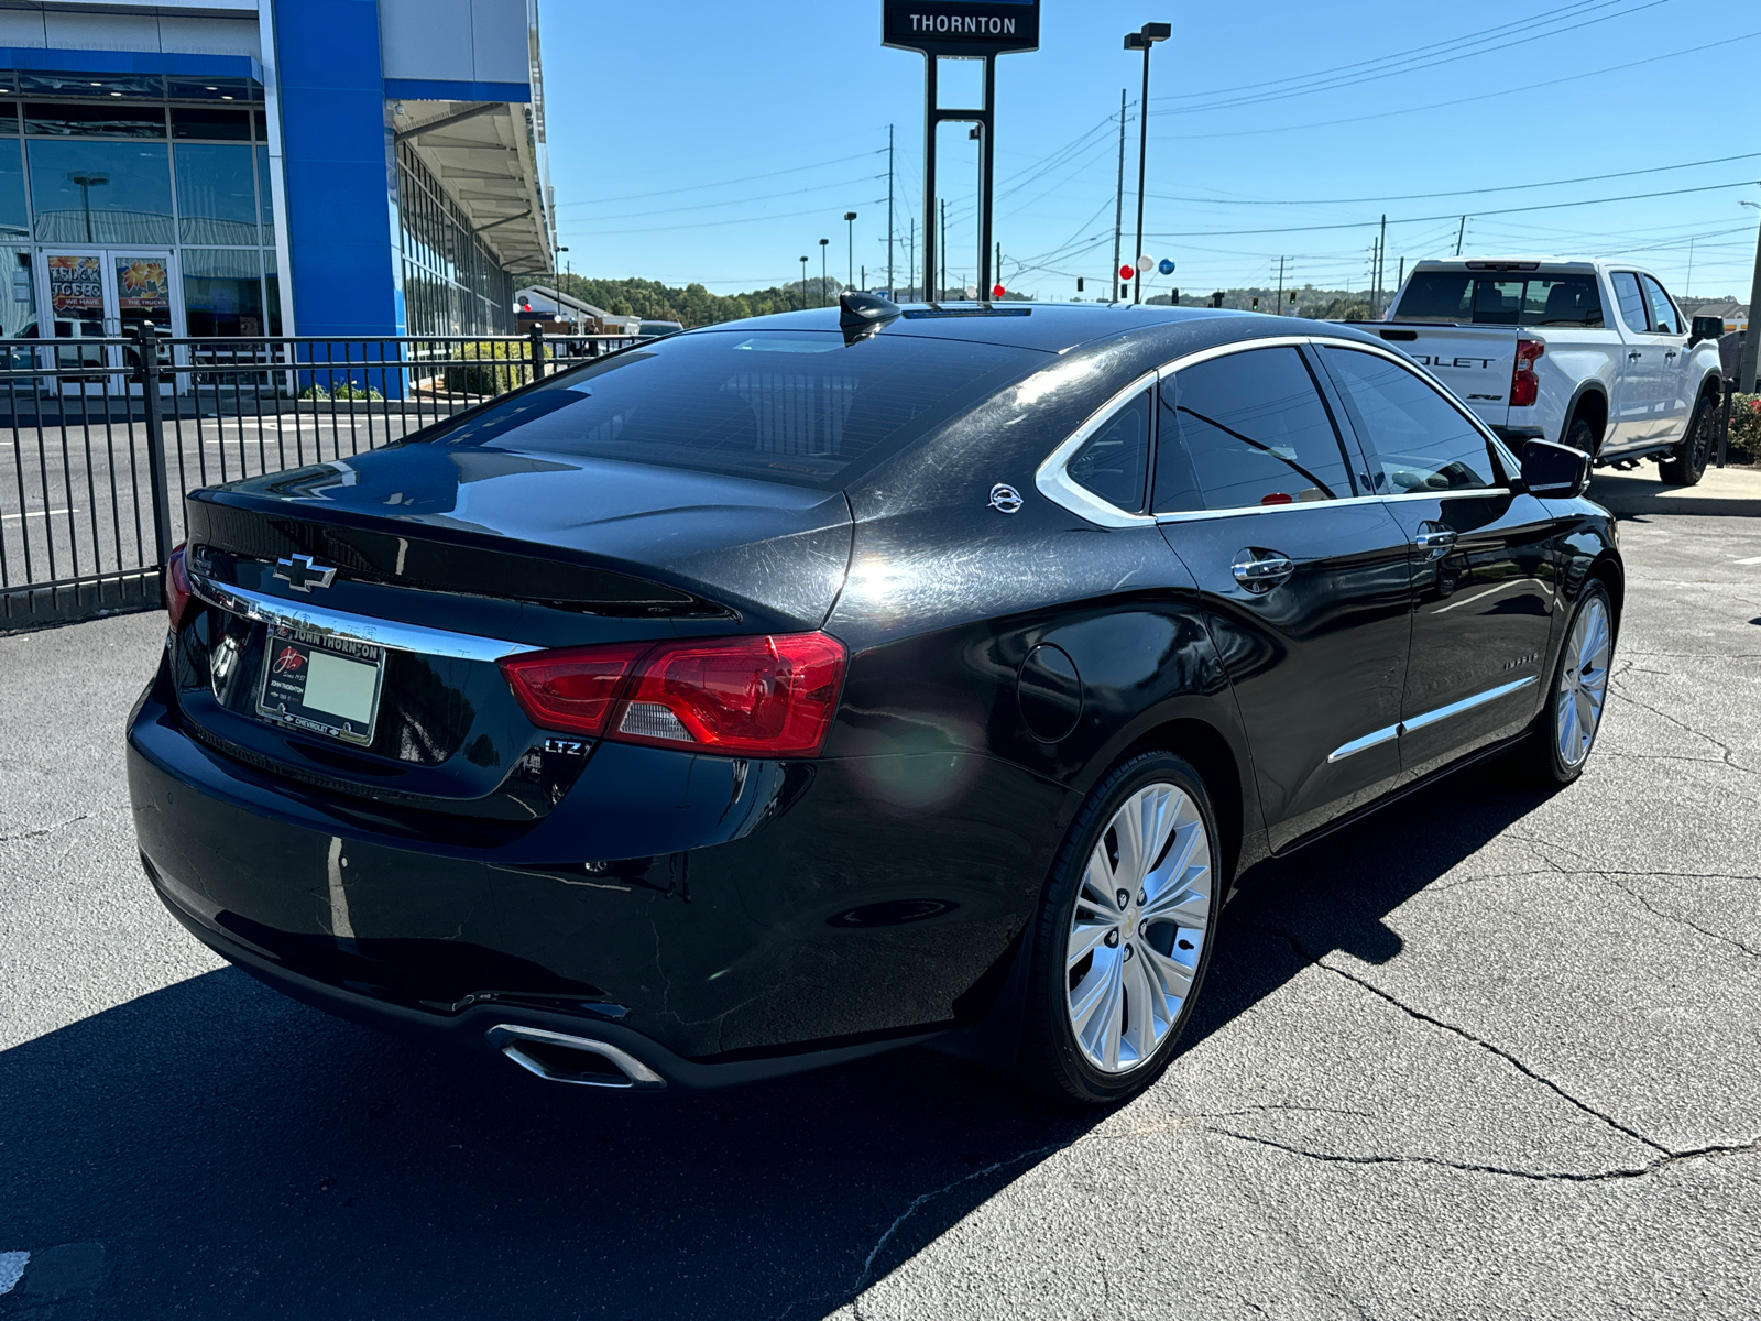
{"label": "silver multi-spoke alloy rim of the black sedan's rear wheel, without tire", "polygon": [[1141,1067],[1180,1022],[1212,886],[1205,817],[1178,786],[1138,789],[1101,831],[1071,916],[1065,976],[1076,1044],[1102,1073]]}

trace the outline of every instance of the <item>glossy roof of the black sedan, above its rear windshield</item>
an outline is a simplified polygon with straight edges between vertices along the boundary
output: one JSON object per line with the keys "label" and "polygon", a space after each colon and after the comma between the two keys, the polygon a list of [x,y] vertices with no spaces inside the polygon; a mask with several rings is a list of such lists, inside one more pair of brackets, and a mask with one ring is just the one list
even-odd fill
{"label": "glossy roof of the black sedan, above its rear windshield", "polygon": [[[1041,349],[1065,352],[1079,343],[1104,340],[1131,329],[1171,326],[1180,322],[1217,319],[1256,319],[1252,312],[1222,312],[1217,308],[1169,306],[1166,303],[902,303],[902,315],[880,328],[882,335],[912,335],[933,340],[967,340],[972,343],[1000,343],[1013,349]],[[1264,317],[1277,321],[1277,317]],[[687,331],[704,335],[715,331],[752,329],[838,329],[838,308],[808,308],[807,312],[777,312],[745,321],[724,321]],[[1243,335],[1250,335],[1245,331]],[[1296,333],[1296,331],[1293,331]]]}

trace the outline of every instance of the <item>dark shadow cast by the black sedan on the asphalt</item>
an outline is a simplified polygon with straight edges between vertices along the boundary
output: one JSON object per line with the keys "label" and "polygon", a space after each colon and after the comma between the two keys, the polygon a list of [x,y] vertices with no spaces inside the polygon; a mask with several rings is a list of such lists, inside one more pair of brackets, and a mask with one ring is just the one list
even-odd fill
{"label": "dark shadow cast by the black sedan on the asphalt", "polygon": [[[1384,918],[1541,798],[1483,766],[1254,868],[1192,1044],[1300,970],[1293,941],[1393,958]],[[925,1050],[717,1094],[558,1087],[225,969],[0,1053],[0,1252],[102,1263],[28,1268],[0,1317],[51,1286],[56,1317],[817,1317],[1099,1118]]]}

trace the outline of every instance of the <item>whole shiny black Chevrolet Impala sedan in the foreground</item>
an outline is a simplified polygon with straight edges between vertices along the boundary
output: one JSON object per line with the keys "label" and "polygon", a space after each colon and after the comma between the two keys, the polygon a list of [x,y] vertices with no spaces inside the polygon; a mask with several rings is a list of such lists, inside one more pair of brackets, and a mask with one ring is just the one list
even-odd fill
{"label": "whole shiny black Chevrolet Impala sedan in the foreground", "polygon": [[1580,773],[1585,479],[1333,324],[687,331],[195,491],[141,858],[271,986],[544,1078],[937,1039],[1118,1101],[1254,861],[1495,752]]}

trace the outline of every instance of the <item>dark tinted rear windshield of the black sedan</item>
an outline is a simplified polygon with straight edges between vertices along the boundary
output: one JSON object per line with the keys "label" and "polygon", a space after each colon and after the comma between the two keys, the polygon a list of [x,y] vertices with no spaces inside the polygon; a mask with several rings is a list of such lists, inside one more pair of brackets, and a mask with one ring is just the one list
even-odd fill
{"label": "dark tinted rear windshield of the black sedan", "polygon": [[880,333],[697,331],[576,368],[424,437],[836,486],[1051,354]]}

